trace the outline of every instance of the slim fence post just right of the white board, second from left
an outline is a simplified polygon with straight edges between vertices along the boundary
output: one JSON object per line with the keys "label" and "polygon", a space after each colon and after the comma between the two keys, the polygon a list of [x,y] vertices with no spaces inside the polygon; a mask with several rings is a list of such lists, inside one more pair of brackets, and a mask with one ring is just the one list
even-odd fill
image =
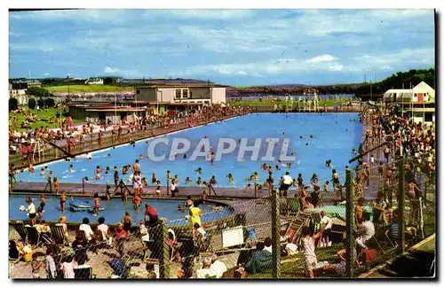
{"label": "slim fence post just right of the white board, second from left", "polygon": [[281,276],[281,219],[279,213],[279,192],[272,190],[272,246],[273,246],[273,278]]}

